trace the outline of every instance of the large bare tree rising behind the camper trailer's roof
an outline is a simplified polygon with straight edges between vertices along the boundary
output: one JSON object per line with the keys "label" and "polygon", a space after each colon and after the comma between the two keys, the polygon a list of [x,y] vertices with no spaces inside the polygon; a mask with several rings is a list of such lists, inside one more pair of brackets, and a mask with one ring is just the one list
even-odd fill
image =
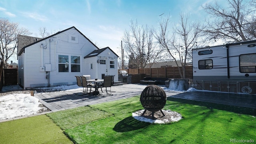
{"label": "large bare tree rising behind the camper trailer's roof", "polygon": [[221,7],[217,1],[214,4],[202,6],[212,20],[207,20],[207,26],[204,29],[207,38],[235,42],[256,38],[255,7],[243,0],[227,0],[227,2],[228,7],[225,8]]}

